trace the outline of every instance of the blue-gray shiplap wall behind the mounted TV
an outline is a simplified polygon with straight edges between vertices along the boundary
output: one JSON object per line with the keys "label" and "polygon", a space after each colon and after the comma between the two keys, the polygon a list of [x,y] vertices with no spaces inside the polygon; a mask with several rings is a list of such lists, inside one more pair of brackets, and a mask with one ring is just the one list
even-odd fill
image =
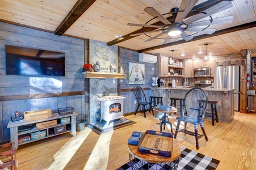
{"label": "blue-gray shiplap wall behind the mounted TV", "polygon": [[[0,96],[85,91],[85,79],[81,69],[85,62],[84,40],[1,22],[0,35]],[[65,77],[6,75],[5,45],[64,52]],[[56,113],[57,108],[68,106],[74,107],[77,113],[85,114],[85,96],[0,101],[0,143],[10,140],[7,124],[14,111],[23,113],[50,108]]]}

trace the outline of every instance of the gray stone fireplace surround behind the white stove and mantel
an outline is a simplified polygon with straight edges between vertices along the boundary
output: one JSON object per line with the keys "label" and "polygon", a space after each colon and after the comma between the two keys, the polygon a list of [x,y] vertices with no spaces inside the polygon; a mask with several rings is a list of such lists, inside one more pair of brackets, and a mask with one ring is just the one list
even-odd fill
{"label": "gray stone fireplace surround behind the white stove and mantel", "polygon": [[[102,66],[110,66],[111,63],[116,63],[118,57],[118,46],[107,46],[105,42],[90,40],[89,42],[89,63],[98,61]],[[102,96],[117,95],[117,79],[90,79],[89,83],[89,101],[88,105],[88,121],[92,126],[98,125],[100,121],[100,101],[97,99]],[[102,125],[106,121],[101,122]]]}

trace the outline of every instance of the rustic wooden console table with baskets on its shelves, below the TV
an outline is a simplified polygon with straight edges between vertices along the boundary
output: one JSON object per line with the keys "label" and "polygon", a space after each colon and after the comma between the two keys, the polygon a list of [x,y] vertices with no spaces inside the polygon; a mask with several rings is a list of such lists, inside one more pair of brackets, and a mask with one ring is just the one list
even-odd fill
{"label": "rustic wooden console table with baskets on its shelves, below the TV", "polygon": [[[67,132],[72,132],[73,136],[75,137],[76,135],[76,125],[75,125],[75,117],[77,116],[77,113],[73,113],[73,114],[66,114],[64,116],[60,116],[58,113],[53,113],[51,118],[46,118],[43,120],[36,120],[36,121],[24,121],[24,120],[20,120],[20,121],[15,121],[15,122],[11,122],[9,121],[7,128],[10,128],[10,132],[11,132],[11,142],[12,142],[12,147],[17,149],[19,145],[23,145],[26,143],[30,143],[30,142],[34,142],[34,141],[39,141],[41,139],[45,139],[45,138],[49,138],[49,137],[53,137],[55,135],[59,135],[62,133],[67,133]],[[45,121],[51,121],[51,120],[58,120],[57,122],[59,122],[60,118],[64,118],[64,117],[70,117],[71,121],[67,124],[60,124],[58,123],[56,126],[51,126],[51,127],[47,127],[47,128],[43,128],[43,129],[37,129],[36,128],[36,123],[39,122],[45,122]],[[31,129],[30,130],[26,130],[26,131],[20,131],[18,132],[18,128],[20,126],[24,126],[24,125],[30,125]],[[50,131],[54,131],[54,128],[58,128],[61,126],[65,126],[65,131],[61,132],[61,133],[56,133],[56,134],[52,134]],[[41,138],[41,139],[36,139],[36,140],[30,140],[27,142],[23,142],[23,143],[18,143],[18,139],[24,135],[30,135],[30,133],[35,133],[36,131],[41,131],[41,130],[46,130],[46,137]]]}

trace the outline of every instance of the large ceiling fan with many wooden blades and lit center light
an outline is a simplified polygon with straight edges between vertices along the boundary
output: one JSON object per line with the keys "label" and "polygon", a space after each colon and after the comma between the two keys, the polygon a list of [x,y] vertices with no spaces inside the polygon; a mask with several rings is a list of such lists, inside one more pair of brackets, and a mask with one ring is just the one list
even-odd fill
{"label": "large ceiling fan with many wooden blades and lit center light", "polygon": [[[215,5],[205,9],[204,11],[196,11],[192,10],[192,8],[196,5],[199,0],[183,0],[181,6],[171,8],[169,13],[172,14],[173,20],[170,21],[164,17],[166,14],[160,14],[153,7],[146,7],[144,9],[149,15],[153,16],[153,19],[158,19],[162,22],[162,25],[150,25],[148,24],[153,19],[150,19],[145,24],[135,24],[128,23],[129,26],[138,26],[142,27],[141,33],[135,33],[131,36],[138,36],[145,34],[150,37],[150,39],[144,41],[151,41],[153,39],[165,39],[164,43],[169,42],[173,38],[183,38],[185,41],[189,41],[193,39],[194,35],[202,35],[202,34],[212,34],[216,31],[214,28],[208,28],[212,24],[221,24],[221,23],[229,23],[232,22],[233,16],[224,16],[221,18],[213,19],[211,15],[216,14],[217,12],[223,11],[227,8],[232,7],[232,3],[230,1],[220,1]],[[212,0],[209,0],[212,1]],[[188,13],[194,12],[190,18],[185,19]],[[207,18],[207,20],[201,20]],[[159,28],[153,31],[144,31],[145,27]],[[147,33],[153,32],[161,32],[156,36],[149,36]],[[160,36],[167,34],[167,37],[160,38]]]}

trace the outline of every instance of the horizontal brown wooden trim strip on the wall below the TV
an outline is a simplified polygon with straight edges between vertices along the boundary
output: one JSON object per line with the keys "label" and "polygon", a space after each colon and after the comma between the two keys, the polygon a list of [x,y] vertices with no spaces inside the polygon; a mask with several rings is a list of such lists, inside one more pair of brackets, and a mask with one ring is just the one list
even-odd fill
{"label": "horizontal brown wooden trim strip on the wall below the TV", "polygon": [[61,93],[52,93],[52,94],[0,96],[0,101],[41,99],[41,98],[48,98],[48,97],[64,97],[64,96],[77,96],[77,95],[85,95],[85,91],[61,92]]}

